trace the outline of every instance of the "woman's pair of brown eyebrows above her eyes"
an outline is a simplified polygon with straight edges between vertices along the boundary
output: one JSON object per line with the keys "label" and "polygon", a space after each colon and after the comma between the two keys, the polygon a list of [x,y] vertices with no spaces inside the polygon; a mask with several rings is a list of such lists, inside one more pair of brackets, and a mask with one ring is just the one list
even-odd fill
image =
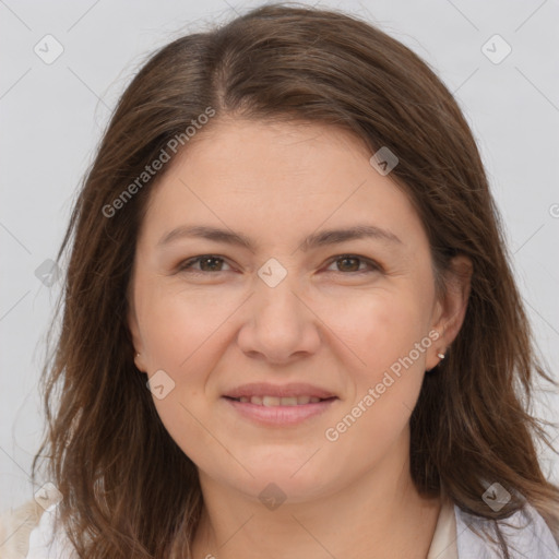
{"label": "woman's pair of brown eyebrows above her eyes", "polygon": [[[227,245],[243,247],[251,252],[254,252],[254,243],[248,237],[227,229],[219,229],[203,225],[176,227],[165,234],[157,242],[157,246],[160,247],[168,245],[171,241],[185,237],[226,242]],[[300,248],[304,252],[308,252],[314,248],[365,238],[379,239],[391,245],[403,245],[402,240],[389,230],[381,229],[373,225],[356,225],[345,229],[325,229],[319,233],[313,233],[301,241]]]}

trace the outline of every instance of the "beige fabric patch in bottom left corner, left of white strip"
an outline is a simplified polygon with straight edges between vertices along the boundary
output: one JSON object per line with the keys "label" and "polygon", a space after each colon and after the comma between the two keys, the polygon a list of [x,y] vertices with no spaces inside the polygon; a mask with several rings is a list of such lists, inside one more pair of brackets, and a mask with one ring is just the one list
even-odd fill
{"label": "beige fabric patch in bottom left corner, left of white strip", "polygon": [[31,500],[0,515],[0,559],[27,557],[31,533],[38,526],[43,512],[44,509]]}

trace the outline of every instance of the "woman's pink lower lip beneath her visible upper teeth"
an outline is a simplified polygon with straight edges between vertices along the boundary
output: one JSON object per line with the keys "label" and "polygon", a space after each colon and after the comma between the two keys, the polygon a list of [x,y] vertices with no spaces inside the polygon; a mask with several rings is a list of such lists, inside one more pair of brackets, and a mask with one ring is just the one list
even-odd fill
{"label": "woman's pink lower lip beneath her visible upper teeth", "polygon": [[228,397],[224,399],[243,417],[260,425],[288,426],[298,425],[306,419],[323,414],[337,400],[321,400],[314,404],[300,404],[297,406],[262,406],[250,402],[238,402]]}

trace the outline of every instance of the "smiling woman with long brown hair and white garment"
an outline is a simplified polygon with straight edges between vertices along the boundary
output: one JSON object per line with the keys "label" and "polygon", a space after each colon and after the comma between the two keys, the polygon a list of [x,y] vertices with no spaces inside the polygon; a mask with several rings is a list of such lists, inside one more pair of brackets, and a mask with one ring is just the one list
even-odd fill
{"label": "smiling woman with long brown hair and white garment", "polygon": [[402,44],[282,5],[174,41],[70,241],[28,557],[559,558],[552,380],[472,133]]}

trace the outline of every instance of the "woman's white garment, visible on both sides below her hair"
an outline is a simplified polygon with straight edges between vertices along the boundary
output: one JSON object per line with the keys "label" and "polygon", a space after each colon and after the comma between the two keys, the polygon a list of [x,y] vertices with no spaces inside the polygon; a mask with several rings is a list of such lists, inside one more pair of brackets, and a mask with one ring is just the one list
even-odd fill
{"label": "woman's white garment, visible on both sides below her hair", "polygon": [[[31,533],[26,559],[78,559],[63,534],[52,537],[55,514],[56,510],[43,513],[39,524]],[[472,530],[485,528],[495,535],[491,524],[491,521],[468,514],[444,501],[427,559],[502,559],[495,545]],[[499,524],[510,547],[511,559],[559,559],[559,546],[533,507],[526,506],[525,511],[519,511]]]}

